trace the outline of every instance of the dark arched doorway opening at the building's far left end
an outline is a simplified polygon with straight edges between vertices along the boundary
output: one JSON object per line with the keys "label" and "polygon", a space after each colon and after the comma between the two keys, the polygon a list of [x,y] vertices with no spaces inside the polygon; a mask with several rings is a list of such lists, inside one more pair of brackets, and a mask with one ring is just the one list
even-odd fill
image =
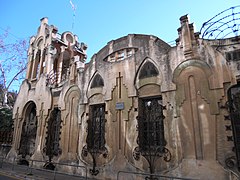
{"label": "dark arched doorway opening at the building's far left end", "polygon": [[29,101],[23,109],[23,121],[21,122],[21,139],[19,152],[22,158],[32,156],[35,151],[35,140],[37,135],[37,106]]}

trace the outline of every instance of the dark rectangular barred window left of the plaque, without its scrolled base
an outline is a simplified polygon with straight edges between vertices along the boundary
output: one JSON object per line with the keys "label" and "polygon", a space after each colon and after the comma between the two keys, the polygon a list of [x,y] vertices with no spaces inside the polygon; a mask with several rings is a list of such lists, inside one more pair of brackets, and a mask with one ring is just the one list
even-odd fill
{"label": "dark rectangular barred window left of the plaque, without its scrolled base", "polygon": [[87,149],[101,153],[105,150],[105,104],[90,106],[88,120]]}

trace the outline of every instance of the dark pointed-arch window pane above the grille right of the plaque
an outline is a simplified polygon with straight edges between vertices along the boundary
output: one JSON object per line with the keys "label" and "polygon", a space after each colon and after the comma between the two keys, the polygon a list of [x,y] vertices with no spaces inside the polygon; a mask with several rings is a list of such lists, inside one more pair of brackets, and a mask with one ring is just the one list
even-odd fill
{"label": "dark pointed-arch window pane above the grille right of the plaque", "polygon": [[154,64],[151,62],[146,62],[140,71],[139,79],[157,76],[158,74],[159,72]]}

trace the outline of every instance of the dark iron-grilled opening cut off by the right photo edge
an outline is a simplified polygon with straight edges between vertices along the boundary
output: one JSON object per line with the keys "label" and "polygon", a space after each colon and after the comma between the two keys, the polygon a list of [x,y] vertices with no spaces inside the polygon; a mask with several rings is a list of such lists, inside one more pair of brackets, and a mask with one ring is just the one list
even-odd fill
{"label": "dark iron-grilled opening cut off by the right photo edge", "polygon": [[240,170],[240,83],[229,89],[228,100],[237,166]]}

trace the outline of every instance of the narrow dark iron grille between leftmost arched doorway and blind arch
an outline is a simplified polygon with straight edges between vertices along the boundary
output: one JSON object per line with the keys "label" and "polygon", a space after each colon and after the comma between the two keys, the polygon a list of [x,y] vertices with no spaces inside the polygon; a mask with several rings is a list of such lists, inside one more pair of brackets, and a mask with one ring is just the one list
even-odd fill
{"label": "narrow dark iron grille between leftmost arched doorway and blind arch", "polygon": [[53,156],[61,154],[59,148],[60,140],[60,129],[61,129],[61,111],[58,108],[54,108],[51,112],[47,126],[47,138],[45,152],[51,162]]}

